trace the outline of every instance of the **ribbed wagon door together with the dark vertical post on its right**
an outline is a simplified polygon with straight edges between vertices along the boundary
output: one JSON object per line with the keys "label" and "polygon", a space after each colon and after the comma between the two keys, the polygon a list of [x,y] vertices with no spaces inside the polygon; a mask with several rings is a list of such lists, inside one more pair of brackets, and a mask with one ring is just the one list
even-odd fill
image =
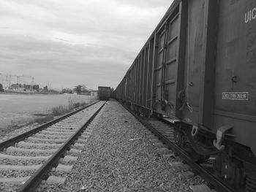
{"label": "ribbed wagon door together with the dark vertical post on its right", "polygon": [[[178,4],[170,18],[157,31],[156,101],[154,110],[173,116],[177,115],[176,92],[183,87],[184,50],[187,28],[184,15],[186,5]],[[181,19],[183,18],[183,19]],[[182,42],[182,45],[181,45]],[[182,55],[182,57],[181,57]]]}

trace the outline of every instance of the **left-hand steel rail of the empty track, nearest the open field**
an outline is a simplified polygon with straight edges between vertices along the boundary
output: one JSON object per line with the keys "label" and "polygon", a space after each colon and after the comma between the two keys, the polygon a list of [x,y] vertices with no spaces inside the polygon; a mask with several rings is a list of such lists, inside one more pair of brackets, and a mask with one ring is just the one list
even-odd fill
{"label": "left-hand steel rail of the empty track, nearest the open field", "polygon": [[74,114],[77,113],[77,112],[80,112],[80,111],[82,111],[82,110],[85,110],[87,107],[90,107],[91,105],[97,104],[97,102],[99,102],[99,101],[95,101],[95,102],[92,103],[92,104],[86,105],[86,107],[81,107],[81,108],[78,109],[78,110],[75,110],[75,111],[73,111],[73,112],[69,112],[69,113],[67,113],[66,115],[62,115],[60,118],[57,118],[57,119],[55,119],[55,120],[51,120],[51,121],[49,121],[48,123],[44,123],[44,124],[42,124],[42,126],[38,126],[38,127],[36,127],[36,128],[31,129],[30,131],[26,131],[26,132],[23,133],[23,134],[20,134],[20,135],[18,135],[18,136],[16,136],[16,137],[12,137],[12,138],[10,138],[10,139],[7,139],[7,140],[4,141],[4,142],[1,142],[1,143],[0,143],[0,151],[1,151],[1,150],[4,150],[4,148],[7,148],[7,147],[10,147],[10,146],[14,145],[15,142],[20,142],[20,141],[26,139],[26,137],[30,137],[31,135],[36,134],[36,133],[39,132],[39,131],[42,131],[43,129],[47,128],[48,126],[51,126],[51,125],[53,125],[53,124],[55,124],[55,123],[57,123],[57,122],[59,122],[59,121],[61,121],[61,120],[64,120],[65,118],[68,118],[68,117],[71,116],[71,115],[74,115]]}

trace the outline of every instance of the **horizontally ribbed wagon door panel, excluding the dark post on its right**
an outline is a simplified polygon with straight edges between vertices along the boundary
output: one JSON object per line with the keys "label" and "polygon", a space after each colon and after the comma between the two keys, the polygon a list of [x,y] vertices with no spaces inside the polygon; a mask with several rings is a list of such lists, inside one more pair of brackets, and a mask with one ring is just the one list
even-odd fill
{"label": "horizontally ribbed wagon door panel, excluding the dark post on its right", "polygon": [[176,13],[158,34],[156,110],[165,115],[175,115],[179,22]]}

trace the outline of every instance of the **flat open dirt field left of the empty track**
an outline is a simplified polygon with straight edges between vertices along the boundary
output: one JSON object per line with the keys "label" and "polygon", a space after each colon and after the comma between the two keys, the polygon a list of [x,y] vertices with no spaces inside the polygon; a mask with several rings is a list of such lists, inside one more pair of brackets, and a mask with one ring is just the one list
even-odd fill
{"label": "flat open dirt field left of the empty track", "polygon": [[0,94],[0,137],[32,122],[53,119],[53,107],[69,107],[71,103],[89,103],[94,96]]}

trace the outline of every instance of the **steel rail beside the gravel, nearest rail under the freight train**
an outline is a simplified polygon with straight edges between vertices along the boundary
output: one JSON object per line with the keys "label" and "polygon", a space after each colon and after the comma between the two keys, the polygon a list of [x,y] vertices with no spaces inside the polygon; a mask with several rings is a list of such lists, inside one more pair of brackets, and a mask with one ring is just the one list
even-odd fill
{"label": "steel rail beside the gravel, nearest rail under the freight train", "polygon": [[169,139],[167,139],[164,135],[162,135],[159,131],[157,131],[154,126],[151,126],[151,124],[147,123],[146,120],[143,120],[142,118],[139,118],[137,115],[135,115],[134,112],[129,110],[127,107],[124,107],[127,111],[129,111],[135,118],[137,118],[140,123],[142,123],[146,128],[149,128],[159,139],[162,140],[162,142],[165,143],[170,149],[172,149],[174,152],[178,153],[178,155],[181,156],[184,161],[187,162],[190,166],[192,166],[194,169],[197,170],[197,172],[200,173],[200,176],[203,177],[204,180],[206,180],[208,183],[211,183],[211,185],[214,185],[217,191],[220,192],[235,192],[232,188],[225,185],[225,183],[222,182],[222,180],[219,180],[217,177],[215,177],[213,174],[208,172],[206,169],[204,169],[200,164],[195,163],[195,161],[192,161],[191,157],[181,149],[181,147],[178,147],[178,145],[171,142]]}

